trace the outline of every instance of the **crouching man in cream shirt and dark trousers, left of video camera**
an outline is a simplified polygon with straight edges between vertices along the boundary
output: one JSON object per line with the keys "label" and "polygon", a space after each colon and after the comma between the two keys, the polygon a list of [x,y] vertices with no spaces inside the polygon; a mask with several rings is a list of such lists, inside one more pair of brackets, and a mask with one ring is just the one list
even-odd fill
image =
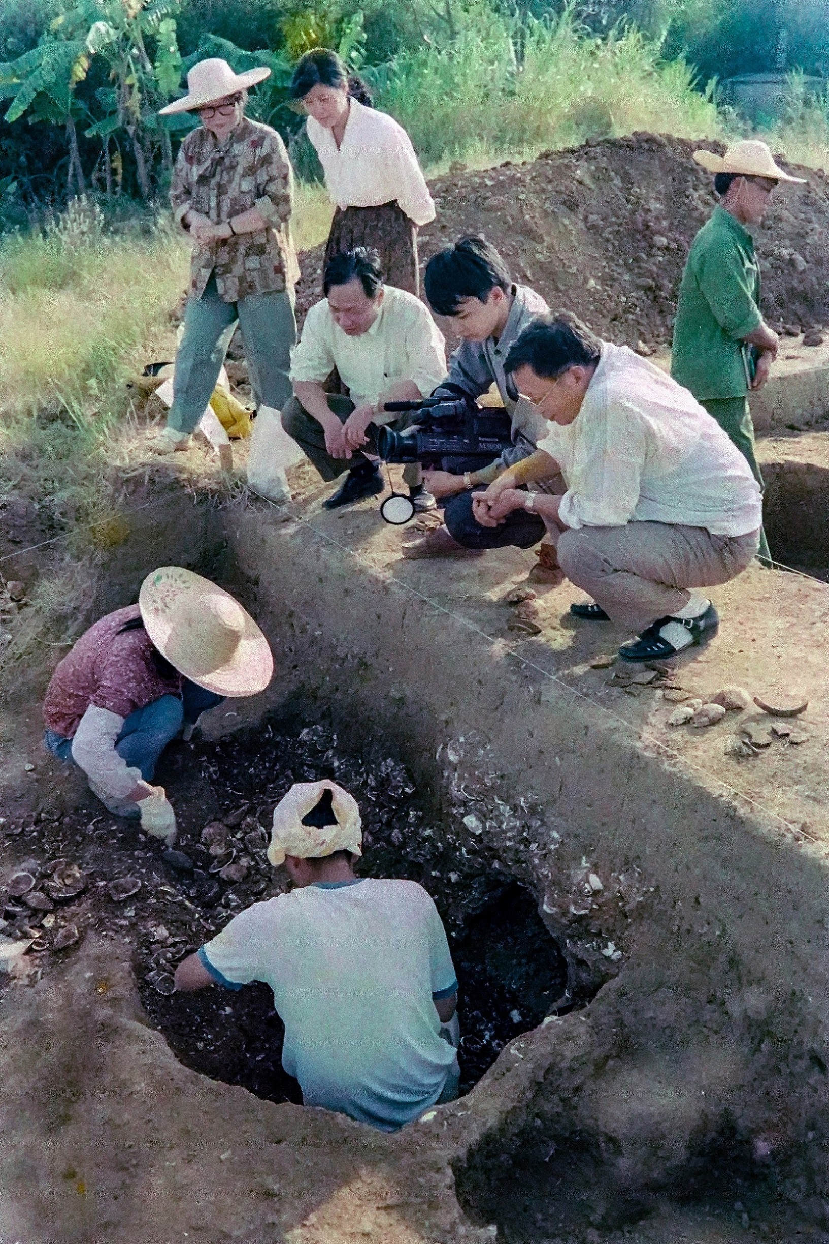
{"label": "crouching man in cream shirt and dark trousers, left of video camera", "polygon": [[[420,299],[383,284],[375,250],[343,250],[326,265],[326,297],[311,307],[291,360],[293,398],[282,409],[282,427],[324,480],[346,479],[327,510],[350,505],[384,489],[374,449],[378,428],[398,432],[415,422],[413,412],[394,415],[387,402],[426,397],[446,374],[444,337]],[[337,368],[349,396],[327,393]],[[403,473],[416,510],[434,509],[419,463]]]}

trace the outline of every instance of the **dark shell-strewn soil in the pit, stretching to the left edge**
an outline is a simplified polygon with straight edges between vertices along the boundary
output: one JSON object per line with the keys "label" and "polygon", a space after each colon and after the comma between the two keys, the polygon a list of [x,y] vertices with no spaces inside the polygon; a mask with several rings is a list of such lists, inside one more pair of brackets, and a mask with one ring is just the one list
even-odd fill
{"label": "dark shell-strewn soil in the pit, stretching to the left edge", "polygon": [[[88,928],[123,939],[133,948],[143,1005],[183,1062],[271,1101],[301,1101],[296,1081],[281,1067],[283,1029],[266,985],[174,994],[172,974],[234,912],[281,892],[283,875],[265,853],[273,806],[292,782],[318,778],[336,779],[360,805],[364,856],[358,871],[418,881],[435,898],[460,982],[466,1091],[507,1041],[570,1001],[566,962],[536,899],[507,875],[486,841],[472,845],[460,824],[430,817],[400,763],[372,751],[346,754],[322,725],[271,723],[216,743],[168,749],[157,780],[179,815],[179,855],[165,855],[135,822],[107,814],[41,812],[34,822],[12,822],[5,857],[26,865],[39,892],[60,860],[78,865],[86,886],[50,913],[10,899],[2,932],[41,939],[42,952],[26,957],[34,973],[47,969],[52,957],[72,954],[72,945],[52,949],[70,926],[80,939]],[[211,855],[211,843],[201,841],[205,825],[216,822],[225,826],[224,856]],[[230,851],[244,872],[239,880],[216,871]],[[113,883],[126,880],[132,884],[123,888],[133,892],[119,898]]]}

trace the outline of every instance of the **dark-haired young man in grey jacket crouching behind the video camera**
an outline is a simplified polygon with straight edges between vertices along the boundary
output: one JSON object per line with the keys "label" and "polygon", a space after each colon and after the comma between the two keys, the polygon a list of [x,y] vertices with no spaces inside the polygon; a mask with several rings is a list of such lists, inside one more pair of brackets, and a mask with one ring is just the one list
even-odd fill
{"label": "dark-haired young man in grey jacket crouching behind the video camera", "polygon": [[476,557],[485,549],[517,545],[529,549],[544,535],[534,514],[515,514],[497,527],[482,526],[472,513],[472,489],[492,483],[501,471],[533,453],[547,434],[543,419],[520,401],[505,371],[511,346],[547,304],[526,285],[513,284],[497,250],[482,238],[461,238],[426,264],[426,297],[437,315],[451,316],[462,343],[449,363],[449,376],[435,391],[447,399],[475,402],[497,386],[511,419],[512,445],[488,466],[451,474],[428,470],[425,486],[444,505],[444,525],[403,545],[404,557]]}

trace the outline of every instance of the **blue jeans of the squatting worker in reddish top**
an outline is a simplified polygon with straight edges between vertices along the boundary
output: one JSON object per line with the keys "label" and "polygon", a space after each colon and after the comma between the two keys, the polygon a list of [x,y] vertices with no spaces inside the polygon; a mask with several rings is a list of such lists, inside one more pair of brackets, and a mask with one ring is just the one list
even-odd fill
{"label": "blue jeans of the squatting worker in reddish top", "polygon": [[[185,678],[180,699],[178,695],[162,695],[145,708],[137,708],[124,719],[121,734],[116,739],[116,751],[131,769],[140,770],[144,781],[152,781],[158,758],[167,744],[176,736],[181,725],[185,722],[195,725],[201,713],[221,704],[224,699],[224,695],[196,687]],[[58,760],[73,764],[71,739],[47,730],[44,741]]]}

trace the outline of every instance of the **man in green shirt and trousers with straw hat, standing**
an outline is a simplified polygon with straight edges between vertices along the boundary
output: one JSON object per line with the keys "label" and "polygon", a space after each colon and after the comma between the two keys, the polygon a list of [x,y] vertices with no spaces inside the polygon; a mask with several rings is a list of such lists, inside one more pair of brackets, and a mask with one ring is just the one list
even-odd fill
{"label": "man in green shirt and trousers with straw hat, standing", "polygon": [[[695,152],[715,174],[720,203],[691,244],[674,326],[671,376],[690,389],[744,454],[754,478],[754,425],[747,393],[763,387],[779,340],[759,310],[759,267],[746,225],[758,224],[781,182],[802,182],[774,163],[766,143],[733,143],[725,156]],[[764,532],[758,556],[771,561]]]}

